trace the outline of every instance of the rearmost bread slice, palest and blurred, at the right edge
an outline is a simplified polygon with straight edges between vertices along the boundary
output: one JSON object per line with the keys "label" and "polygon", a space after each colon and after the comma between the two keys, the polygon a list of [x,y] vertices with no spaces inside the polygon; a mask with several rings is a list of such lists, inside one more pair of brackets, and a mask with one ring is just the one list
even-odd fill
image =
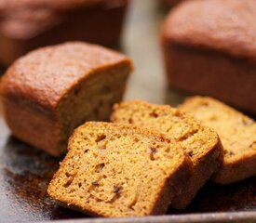
{"label": "rearmost bread slice, palest and blurred, at the right edge", "polygon": [[180,108],[192,112],[222,138],[223,164],[213,177],[215,182],[230,184],[256,176],[256,124],[252,119],[209,97],[188,98]]}

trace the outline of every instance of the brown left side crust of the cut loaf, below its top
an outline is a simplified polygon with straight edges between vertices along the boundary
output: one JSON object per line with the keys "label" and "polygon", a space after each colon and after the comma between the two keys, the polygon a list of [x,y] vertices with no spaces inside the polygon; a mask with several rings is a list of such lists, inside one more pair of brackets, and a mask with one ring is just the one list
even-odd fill
{"label": "brown left side crust of the cut loaf, below its top", "polygon": [[3,112],[12,134],[35,148],[47,151],[53,156],[63,152],[59,148],[60,125],[44,113],[2,98]]}

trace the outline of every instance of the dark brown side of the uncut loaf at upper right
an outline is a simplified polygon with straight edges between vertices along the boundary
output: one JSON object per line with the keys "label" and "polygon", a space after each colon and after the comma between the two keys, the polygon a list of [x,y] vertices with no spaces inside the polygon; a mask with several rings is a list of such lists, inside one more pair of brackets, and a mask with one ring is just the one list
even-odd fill
{"label": "dark brown side of the uncut loaf at upper right", "polygon": [[245,111],[256,112],[253,94],[256,66],[249,60],[175,44],[164,46],[163,51],[171,87],[219,98]]}

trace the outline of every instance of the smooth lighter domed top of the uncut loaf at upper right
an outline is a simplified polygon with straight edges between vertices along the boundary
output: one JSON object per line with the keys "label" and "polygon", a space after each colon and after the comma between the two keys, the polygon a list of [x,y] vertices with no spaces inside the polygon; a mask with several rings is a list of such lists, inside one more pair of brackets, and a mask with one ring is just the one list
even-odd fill
{"label": "smooth lighter domed top of the uncut loaf at upper right", "polygon": [[169,13],[162,40],[255,61],[255,13],[254,0],[185,1]]}

